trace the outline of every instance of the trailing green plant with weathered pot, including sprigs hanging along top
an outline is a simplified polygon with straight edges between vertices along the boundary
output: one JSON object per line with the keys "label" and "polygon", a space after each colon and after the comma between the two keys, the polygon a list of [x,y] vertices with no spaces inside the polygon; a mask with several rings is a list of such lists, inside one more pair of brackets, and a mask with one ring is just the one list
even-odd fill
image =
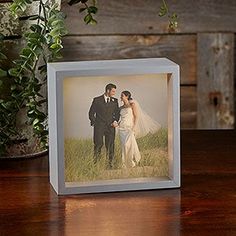
{"label": "trailing green plant with weathered pot, including sprigs hanging along top", "polygon": [[[95,0],[70,0],[80,5],[84,22],[96,24]],[[62,37],[67,34],[60,0],[14,0],[9,11],[22,27],[23,47],[10,61],[0,33],[0,157],[35,156],[48,149],[47,62],[61,58]],[[169,17],[170,29],[177,27],[177,15],[169,14],[163,0],[160,16]],[[9,68],[9,66],[11,68]]]}

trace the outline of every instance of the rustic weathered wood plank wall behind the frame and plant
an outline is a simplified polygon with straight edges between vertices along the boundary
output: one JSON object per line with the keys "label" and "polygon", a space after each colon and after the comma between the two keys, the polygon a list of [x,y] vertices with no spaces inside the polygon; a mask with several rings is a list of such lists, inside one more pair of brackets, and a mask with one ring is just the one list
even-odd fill
{"label": "rustic weathered wood plank wall behind the frame and plant", "polygon": [[[1,10],[6,0],[0,2]],[[98,0],[96,26],[85,25],[78,7],[63,0],[69,29],[63,60],[168,57],[181,66],[181,127],[233,128],[236,1],[167,2],[179,15],[175,33],[158,16],[161,0]],[[9,35],[21,34],[13,28]]]}

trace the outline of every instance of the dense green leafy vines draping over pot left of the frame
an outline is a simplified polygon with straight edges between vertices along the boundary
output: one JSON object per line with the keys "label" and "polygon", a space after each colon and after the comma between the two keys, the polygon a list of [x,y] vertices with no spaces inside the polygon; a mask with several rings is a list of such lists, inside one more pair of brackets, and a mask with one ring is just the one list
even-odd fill
{"label": "dense green leafy vines draping over pot left of the frame", "polygon": [[[29,0],[15,0],[10,10],[17,15],[24,12],[31,3],[32,1]],[[41,89],[46,83],[46,63],[61,57],[60,50],[63,48],[61,38],[67,33],[64,24],[65,15],[57,8],[57,4],[52,5],[50,1],[46,3],[40,1],[39,14],[27,16],[28,20],[37,22],[32,23],[30,29],[24,34],[26,45],[20,51],[19,58],[14,61],[14,67],[9,70],[9,75],[14,77],[11,99],[8,97],[7,104],[2,101],[0,106],[12,117],[16,116],[21,107],[26,106],[29,125],[32,125],[34,134],[40,139],[44,148],[47,147],[48,130],[47,115],[42,111],[42,105],[47,100],[41,94]],[[0,70],[1,74],[4,75],[4,71]],[[43,79],[38,77],[39,74]],[[17,108],[15,112],[12,109],[13,105]],[[8,126],[11,125],[14,129],[14,119],[9,120],[7,116],[3,116],[2,119],[8,120]],[[0,145],[4,147],[10,142],[11,133],[6,131],[1,134],[6,142],[1,142]]]}

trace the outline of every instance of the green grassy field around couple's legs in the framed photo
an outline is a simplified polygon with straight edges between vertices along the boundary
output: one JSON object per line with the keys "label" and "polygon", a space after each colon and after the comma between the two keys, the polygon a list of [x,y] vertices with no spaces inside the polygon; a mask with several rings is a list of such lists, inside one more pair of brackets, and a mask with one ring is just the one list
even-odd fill
{"label": "green grassy field around couple's legs in the framed photo", "polygon": [[167,176],[167,129],[160,129],[155,134],[148,134],[137,139],[141,153],[138,166],[121,168],[121,148],[119,136],[115,140],[115,158],[113,169],[107,168],[105,147],[102,158],[93,163],[93,141],[91,139],[65,140],[65,180],[66,182],[83,182],[138,177]]}

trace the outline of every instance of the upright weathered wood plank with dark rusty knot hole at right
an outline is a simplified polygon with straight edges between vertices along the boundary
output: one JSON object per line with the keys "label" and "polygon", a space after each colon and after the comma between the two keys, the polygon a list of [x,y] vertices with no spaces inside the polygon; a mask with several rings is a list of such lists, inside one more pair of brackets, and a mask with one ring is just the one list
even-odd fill
{"label": "upright weathered wood plank with dark rusty knot hole at right", "polygon": [[234,34],[198,34],[198,115],[200,129],[234,127]]}

